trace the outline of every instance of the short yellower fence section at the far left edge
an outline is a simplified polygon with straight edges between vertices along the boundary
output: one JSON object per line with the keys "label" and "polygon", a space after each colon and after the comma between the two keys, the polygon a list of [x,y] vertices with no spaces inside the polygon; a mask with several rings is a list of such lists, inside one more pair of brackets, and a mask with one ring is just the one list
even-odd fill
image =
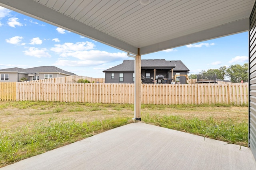
{"label": "short yellower fence section at the far left edge", "polygon": [[16,82],[0,82],[0,100],[16,100]]}

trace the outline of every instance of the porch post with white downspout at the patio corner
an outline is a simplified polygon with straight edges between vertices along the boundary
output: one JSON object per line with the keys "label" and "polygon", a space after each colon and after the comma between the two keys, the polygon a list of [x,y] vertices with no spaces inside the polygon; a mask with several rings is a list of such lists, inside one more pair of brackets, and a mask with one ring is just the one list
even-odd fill
{"label": "porch post with white downspout at the patio corner", "polygon": [[140,55],[136,55],[134,57],[134,73],[135,73],[135,80],[134,80],[134,119],[141,120],[140,118],[140,105],[141,105],[141,57]]}

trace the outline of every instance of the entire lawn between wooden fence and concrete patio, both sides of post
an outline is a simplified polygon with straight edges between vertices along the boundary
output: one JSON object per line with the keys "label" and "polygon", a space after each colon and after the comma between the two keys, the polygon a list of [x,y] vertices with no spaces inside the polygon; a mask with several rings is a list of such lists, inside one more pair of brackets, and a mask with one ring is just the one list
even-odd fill
{"label": "entire lawn between wooden fence and concrete patio, both sides of post", "polygon": [[[142,104],[142,121],[247,146],[248,106]],[[0,102],[0,167],[130,123],[133,104]]]}

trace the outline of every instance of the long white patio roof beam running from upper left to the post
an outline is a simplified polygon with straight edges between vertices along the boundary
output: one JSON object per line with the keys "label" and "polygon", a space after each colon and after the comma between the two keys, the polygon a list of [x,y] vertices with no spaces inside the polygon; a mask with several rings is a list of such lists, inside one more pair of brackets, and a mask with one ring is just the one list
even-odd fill
{"label": "long white patio roof beam running from upper left to the post", "polygon": [[70,18],[69,16],[66,16],[56,10],[48,8],[47,6],[35,2],[34,0],[0,0],[0,5],[32,18],[36,18],[46,23],[50,23],[57,27],[77,33],[84,37],[110,45],[122,51],[126,51],[134,55],[138,53],[137,47],[124,43],[123,41],[98,31],[97,29]]}

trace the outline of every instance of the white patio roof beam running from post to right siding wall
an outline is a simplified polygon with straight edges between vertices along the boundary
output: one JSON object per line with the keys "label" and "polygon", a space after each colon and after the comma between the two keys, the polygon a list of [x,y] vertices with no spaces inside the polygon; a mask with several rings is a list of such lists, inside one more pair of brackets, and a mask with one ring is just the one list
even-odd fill
{"label": "white patio roof beam running from post to right siding wall", "polygon": [[250,20],[245,18],[242,20],[226,23],[218,27],[206,29],[189,35],[184,35],[182,37],[170,39],[161,43],[156,43],[153,45],[148,45],[146,47],[140,48],[140,55],[145,55],[148,53],[154,53],[157,51],[162,51],[170,48],[180,47],[183,45],[188,45],[192,43],[197,43],[200,41],[206,41],[209,39],[215,39],[219,37],[224,37],[227,35],[232,35],[236,33],[241,33],[248,31],[250,29]]}

